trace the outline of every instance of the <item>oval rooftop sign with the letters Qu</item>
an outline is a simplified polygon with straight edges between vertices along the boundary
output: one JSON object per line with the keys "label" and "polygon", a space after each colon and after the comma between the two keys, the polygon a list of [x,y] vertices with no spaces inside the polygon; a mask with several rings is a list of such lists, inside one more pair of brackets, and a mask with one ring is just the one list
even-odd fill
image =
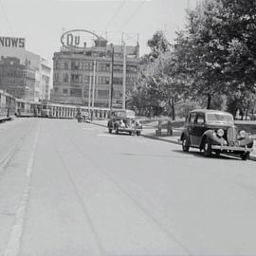
{"label": "oval rooftop sign with the letters Qu", "polygon": [[89,30],[74,29],[64,32],[61,37],[63,46],[86,47],[94,40],[100,40],[100,37]]}

